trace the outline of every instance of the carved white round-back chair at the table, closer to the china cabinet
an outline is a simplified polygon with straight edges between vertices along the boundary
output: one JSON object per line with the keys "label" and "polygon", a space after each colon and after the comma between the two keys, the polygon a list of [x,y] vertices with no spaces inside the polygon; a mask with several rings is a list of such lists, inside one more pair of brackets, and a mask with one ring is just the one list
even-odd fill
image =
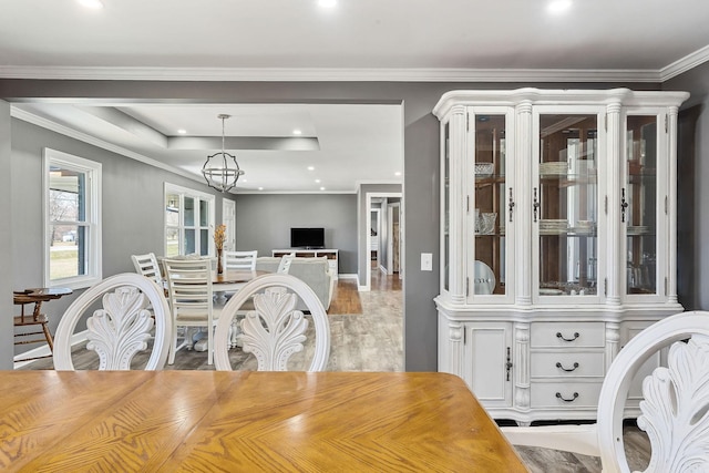
{"label": "carved white round-back chair at the table, closer to the china cabinet", "polygon": [[[315,349],[307,371],[325,370],[330,356],[330,325],[322,302],[310,287],[295,276],[271,273],[247,282],[224,306],[214,341],[214,363],[217,370],[230,371],[229,329],[242,305],[253,297],[254,309],[247,310],[240,322],[243,350],[253,353],[259,371],[286,371],[290,357],[305,348],[310,335]],[[302,311],[296,310],[302,299],[312,319],[314,329]]]}

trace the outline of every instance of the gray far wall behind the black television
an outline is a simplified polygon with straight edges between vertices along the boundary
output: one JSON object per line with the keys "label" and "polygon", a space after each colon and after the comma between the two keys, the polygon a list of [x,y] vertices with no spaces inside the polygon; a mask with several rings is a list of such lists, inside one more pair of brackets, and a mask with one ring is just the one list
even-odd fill
{"label": "gray far wall behind the black television", "polygon": [[240,194],[236,197],[236,248],[290,247],[291,227],[325,228],[327,248],[339,249],[339,273],[357,273],[354,194]]}

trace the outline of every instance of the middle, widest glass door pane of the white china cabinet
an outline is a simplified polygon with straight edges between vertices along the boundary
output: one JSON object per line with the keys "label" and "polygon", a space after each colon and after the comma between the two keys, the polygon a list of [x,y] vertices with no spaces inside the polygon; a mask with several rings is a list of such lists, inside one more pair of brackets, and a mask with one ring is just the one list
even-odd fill
{"label": "middle, widest glass door pane of the white china cabinet", "polygon": [[598,265],[598,115],[538,115],[537,296],[595,296]]}

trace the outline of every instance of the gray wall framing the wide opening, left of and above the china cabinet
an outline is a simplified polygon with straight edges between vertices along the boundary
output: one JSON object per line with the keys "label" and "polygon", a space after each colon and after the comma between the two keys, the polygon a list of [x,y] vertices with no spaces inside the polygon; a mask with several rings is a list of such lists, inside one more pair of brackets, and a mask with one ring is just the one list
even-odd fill
{"label": "gray wall framing the wide opening, left of and above the china cabinet", "polygon": [[[441,95],[460,89],[658,89],[651,83],[404,83],[404,82],[167,82],[0,80],[0,99],[105,97],[147,101],[240,103],[403,103],[404,104],[404,368],[436,369],[436,312],[439,289],[439,121],[431,114]],[[0,120],[0,126],[3,120]],[[9,163],[2,163],[4,169]],[[0,169],[3,171],[3,169]],[[10,191],[0,188],[9,199]],[[369,216],[367,216],[369,218]],[[14,235],[13,238],[21,236]],[[33,250],[38,250],[34,248]],[[419,255],[432,253],[433,271],[421,271]],[[6,312],[10,307],[6,306]],[[1,307],[0,307],[1,309]],[[9,319],[0,318],[0,337],[10,337]],[[2,330],[6,328],[7,330]],[[0,342],[2,339],[0,338]]]}

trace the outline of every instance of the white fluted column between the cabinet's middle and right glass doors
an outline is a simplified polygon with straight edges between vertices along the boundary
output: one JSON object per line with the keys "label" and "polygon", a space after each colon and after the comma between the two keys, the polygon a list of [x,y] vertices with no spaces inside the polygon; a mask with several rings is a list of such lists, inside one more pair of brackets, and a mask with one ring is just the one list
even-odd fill
{"label": "white fluted column between the cabinet's middle and right glass doors", "polygon": [[[607,169],[607,182],[603,179],[599,183],[602,195],[607,195],[610,202],[620,203],[623,188],[623,163],[625,157],[623,153],[623,123],[620,123],[620,104],[610,103],[606,106],[606,150],[604,166]],[[620,245],[617,245],[616,235],[621,235],[621,208],[620,205],[609,205],[606,216],[607,232],[605,237],[606,261],[605,269],[608,275],[606,287],[606,304],[609,306],[619,306],[621,298],[620,288],[620,270],[625,268],[616,261],[625,261],[625,255],[620,255]]]}

